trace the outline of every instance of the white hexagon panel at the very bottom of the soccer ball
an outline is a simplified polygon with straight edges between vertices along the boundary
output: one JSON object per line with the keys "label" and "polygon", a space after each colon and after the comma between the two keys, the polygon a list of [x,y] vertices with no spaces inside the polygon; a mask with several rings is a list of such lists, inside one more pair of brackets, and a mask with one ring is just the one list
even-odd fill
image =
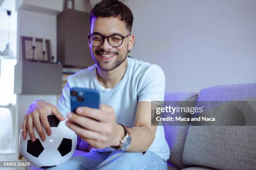
{"label": "white hexagon panel at the very bottom of the soccer ball", "polygon": [[45,149],[38,156],[38,160],[44,166],[55,166],[62,160],[62,156],[57,149]]}

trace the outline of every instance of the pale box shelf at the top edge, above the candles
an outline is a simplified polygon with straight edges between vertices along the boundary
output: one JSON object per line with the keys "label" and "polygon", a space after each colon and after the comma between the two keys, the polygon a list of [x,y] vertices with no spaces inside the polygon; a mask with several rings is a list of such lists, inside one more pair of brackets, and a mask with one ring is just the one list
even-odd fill
{"label": "pale box shelf at the top edge, above the candles", "polygon": [[63,0],[16,0],[16,10],[19,9],[58,15],[63,11]]}

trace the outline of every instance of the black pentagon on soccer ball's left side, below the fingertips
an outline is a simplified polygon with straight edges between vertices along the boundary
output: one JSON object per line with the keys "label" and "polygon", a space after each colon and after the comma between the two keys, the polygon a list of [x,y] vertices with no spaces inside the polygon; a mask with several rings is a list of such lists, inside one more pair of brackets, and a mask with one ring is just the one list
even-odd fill
{"label": "black pentagon on soccer ball's left side, below the fingertips", "polygon": [[27,153],[37,158],[43,152],[43,150],[44,147],[42,146],[39,139],[36,139],[35,142],[32,142],[32,140],[28,140]]}

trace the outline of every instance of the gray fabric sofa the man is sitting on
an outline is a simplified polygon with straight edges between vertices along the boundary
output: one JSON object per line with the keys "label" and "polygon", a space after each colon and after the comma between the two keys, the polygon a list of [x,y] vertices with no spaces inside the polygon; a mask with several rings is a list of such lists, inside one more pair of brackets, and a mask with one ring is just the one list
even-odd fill
{"label": "gray fabric sofa the man is sitting on", "polygon": [[[166,101],[250,102],[256,110],[256,83],[220,85],[196,92],[167,92]],[[256,170],[256,126],[164,126],[169,170]],[[90,150],[79,140],[74,156]]]}

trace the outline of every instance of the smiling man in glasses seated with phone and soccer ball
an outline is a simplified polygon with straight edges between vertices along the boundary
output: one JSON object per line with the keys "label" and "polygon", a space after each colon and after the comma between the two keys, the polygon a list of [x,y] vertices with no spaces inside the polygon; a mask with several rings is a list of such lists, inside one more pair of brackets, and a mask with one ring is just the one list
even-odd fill
{"label": "smiling man in glasses seated with phone and soccer ball", "polygon": [[[33,124],[45,140],[51,135],[47,114],[59,120],[93,148],[52,169],[167,169],[169,148],[162,126],[151,126],[151,101],[163,101],[164,72],[157,65],[127,57],[133,48],[133,14],[118,0],[103,0],[91,11],[88,42],[95,65],[68,77],[57,107],[34,102],[23,123],[32,141]],[[70,112],[70,89],[84,87],[100,92],[100,109],[77,108]],[[62,115],[61,115],[62,114]],[[42,124],[42,125],[41,125]],[[130,127],[130,128],[128,128]]]}

